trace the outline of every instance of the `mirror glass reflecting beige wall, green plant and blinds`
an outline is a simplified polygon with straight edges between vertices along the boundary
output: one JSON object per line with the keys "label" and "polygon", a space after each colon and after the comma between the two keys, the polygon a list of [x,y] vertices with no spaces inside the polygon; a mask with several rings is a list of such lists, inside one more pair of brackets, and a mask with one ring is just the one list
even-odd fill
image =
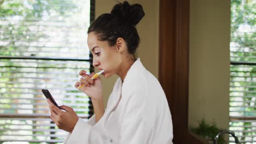
{"label": "mirror glass reflecting beige wall, green plant and blinds", "polygon": [[189,127],[209,141],[229,129],[256,142],[253,11],[255,1],[190,1]]}

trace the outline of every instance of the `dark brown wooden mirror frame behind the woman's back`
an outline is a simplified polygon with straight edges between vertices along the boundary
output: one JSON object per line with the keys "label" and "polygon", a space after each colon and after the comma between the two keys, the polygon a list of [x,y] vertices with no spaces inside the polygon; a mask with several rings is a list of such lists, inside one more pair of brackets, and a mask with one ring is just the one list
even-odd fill
{"label": "dark brown wooden mirror frame behind the woman's back", "polygon": [[172,113],[173,143],[208,143],[188,127],[190,0],[160,0],[159,81]]}

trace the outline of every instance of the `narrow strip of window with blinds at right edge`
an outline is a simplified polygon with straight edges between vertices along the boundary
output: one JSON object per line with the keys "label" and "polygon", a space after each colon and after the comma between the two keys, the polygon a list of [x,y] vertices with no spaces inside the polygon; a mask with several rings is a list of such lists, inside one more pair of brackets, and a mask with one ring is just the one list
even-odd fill
{"label": "narrow strip of window with blinds at right edge", "polygon": [[231,1],[229,127],[241,143],[256,143],[255,11],[254,0]]}

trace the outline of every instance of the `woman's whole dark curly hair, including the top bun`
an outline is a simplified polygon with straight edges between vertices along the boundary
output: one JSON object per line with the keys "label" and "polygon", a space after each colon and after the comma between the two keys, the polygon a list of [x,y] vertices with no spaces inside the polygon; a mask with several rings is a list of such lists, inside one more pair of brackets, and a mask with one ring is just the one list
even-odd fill
{"label": "woman's whole dark curly hair, including the top bun", "polygon": [[112,11],[100,15],[89,27],[88,34],[94,32],[101,41],[115,45],[118,38],[123,38],[128,52],[135,54],[139,45],[136,25],[145,15],[140,4],[130,5],[127,1],[114,5]]}

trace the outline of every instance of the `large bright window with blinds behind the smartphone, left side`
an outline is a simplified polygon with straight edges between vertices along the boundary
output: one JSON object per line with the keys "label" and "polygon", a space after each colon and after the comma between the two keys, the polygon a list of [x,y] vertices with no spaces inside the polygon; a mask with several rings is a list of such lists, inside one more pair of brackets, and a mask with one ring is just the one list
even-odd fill
{"label": "large bright window with blinds behind the smartphone, left side", "polygon": [[[92,71],[86,31],[90,0],[0,0],[0,143],[61,143],[41,89],[88,119],[88,96],[74,88]],[[90,13],[92,12],[92,13]]]}

